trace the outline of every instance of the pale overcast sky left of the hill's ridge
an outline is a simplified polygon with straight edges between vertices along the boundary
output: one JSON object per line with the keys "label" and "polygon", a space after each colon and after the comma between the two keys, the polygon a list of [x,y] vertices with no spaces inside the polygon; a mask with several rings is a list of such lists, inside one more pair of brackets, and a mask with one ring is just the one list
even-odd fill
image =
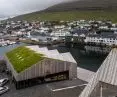
{"label": "pale overcast sky left of the hill's ridge", "polygon": [[0,0],[0,17],[42,10],[63,1],[69,0]]}

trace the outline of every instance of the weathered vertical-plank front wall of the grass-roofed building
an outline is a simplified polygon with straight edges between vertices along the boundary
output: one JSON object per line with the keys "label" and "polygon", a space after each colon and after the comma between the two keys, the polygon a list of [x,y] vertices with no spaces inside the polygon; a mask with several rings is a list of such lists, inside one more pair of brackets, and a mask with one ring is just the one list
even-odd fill
{"label": "weathered vertical-plank front wall of the grass-roofed building", "polygon": [[[14,69],[11,69],[11,71],[12,70]],[[16,81],[23,81],[23,80],[33,79],[37,77],[45,77],[47,75],[52,75],[52,74],[56,74],[64,71],[69,71],[69,78],[76,77],[77,64],[45,58],[44,60],[38,62],[37,64],[26,69],[25,71],[17,74],[16,76],[15,75],[13,76],[15,76]],[[59,78],[62,78],[62,76]]]}

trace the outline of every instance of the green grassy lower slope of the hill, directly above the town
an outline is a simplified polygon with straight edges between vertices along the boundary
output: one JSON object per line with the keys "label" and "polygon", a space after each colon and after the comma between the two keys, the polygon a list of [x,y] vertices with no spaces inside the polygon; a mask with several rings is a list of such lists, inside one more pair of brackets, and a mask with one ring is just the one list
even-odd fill
{"label": "green grassy lower slope of the hill, directly above the town", "polygon": [[18,16],[13,20],[112,20],[117,22],[117,11],[64,11],[64,12],[42,12]]}

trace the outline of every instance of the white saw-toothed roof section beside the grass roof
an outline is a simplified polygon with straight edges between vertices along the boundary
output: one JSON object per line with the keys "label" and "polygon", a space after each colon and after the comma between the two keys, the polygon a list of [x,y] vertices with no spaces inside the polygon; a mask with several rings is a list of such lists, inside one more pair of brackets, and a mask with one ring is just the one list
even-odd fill
{"label": "white saw-toothed roof section beside the grass roof", "polygon": [[59,53],[57,49],[55,50],[48,50],[47,47],[39,47],[37,45],[35,46],[27,46],[27,48],[30,48],[31,50],[34,50],[37,53],[43,54],[47,58],[51,59],[57,59],[61,61],[67,61],[72,63],[77,63],[71,53]]}

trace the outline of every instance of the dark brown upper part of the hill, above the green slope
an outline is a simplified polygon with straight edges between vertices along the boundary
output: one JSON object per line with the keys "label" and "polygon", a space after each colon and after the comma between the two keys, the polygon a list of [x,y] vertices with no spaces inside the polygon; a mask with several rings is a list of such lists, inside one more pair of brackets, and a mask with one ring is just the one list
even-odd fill
{"label": "dark brown upper part of the hill, above the green slope", "polygon": [[45,11],[67,11],[67,10],[115,10],[117,0],[76,0],[60,3],[47,8]]}

